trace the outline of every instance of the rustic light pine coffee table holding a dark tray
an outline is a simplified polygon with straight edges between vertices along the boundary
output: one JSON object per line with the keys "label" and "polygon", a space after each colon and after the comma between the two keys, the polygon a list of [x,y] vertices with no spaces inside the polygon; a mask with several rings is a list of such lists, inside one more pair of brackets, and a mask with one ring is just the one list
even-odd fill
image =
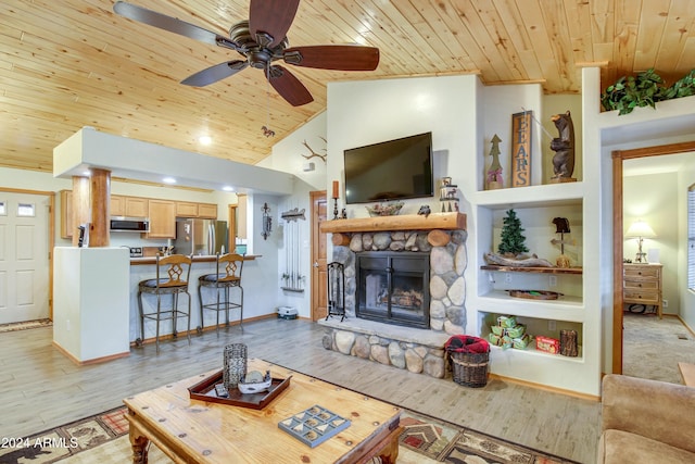
{"label": "rustic light pine coffee table holding a dark tray", "polygon": [[[132,462],[147,463],[152,442],[177,463],[395,463],[399,407],[265,361],[249,360],[248,368],[292,378],[261,410],[191,400],[188,388],[218,369],[125,399]],[[315,448],[278,428],[315,404],[352,424]]]}

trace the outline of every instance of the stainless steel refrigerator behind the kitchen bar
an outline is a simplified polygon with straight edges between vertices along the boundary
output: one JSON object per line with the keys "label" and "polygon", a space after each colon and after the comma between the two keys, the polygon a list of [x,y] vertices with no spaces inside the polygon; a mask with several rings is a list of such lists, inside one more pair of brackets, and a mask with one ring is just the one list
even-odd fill
{"label": "stainless steel refrigerator behind the kitchen bar", "polygon": [[175,253],[216,254],[227,250],[227,222],[213,220],[176,220]]}

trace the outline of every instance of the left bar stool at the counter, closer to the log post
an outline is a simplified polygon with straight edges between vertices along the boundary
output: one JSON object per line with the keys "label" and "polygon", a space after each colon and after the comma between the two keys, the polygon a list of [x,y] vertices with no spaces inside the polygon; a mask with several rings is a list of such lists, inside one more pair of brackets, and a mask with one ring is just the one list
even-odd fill
{"label": "left bar stool at the counter, closer to the log post", "polygon": [[[184,254],[172,254],[170,256],[156,256],[156,277],[141,280],[138,284],[138,308],[140,310],[140,340],[144,340],[144,319],[156,321],[156,351],[160,351],[160,322],[172,321],[172,335],[178,335],[177,322],[180,317],[186,317],[188,325],[186,335],[188,342],[191,342],[191,294],[188,292],[188,280],[191,274],[191,263],[193,256]],[[156,311],[146,313],[142,309],[142,293],[156,294]],[[182,311],[178,306],[179,293],[188,296],[188,309]],[[162,296],[172,296],[172,308],[162,309]]]}

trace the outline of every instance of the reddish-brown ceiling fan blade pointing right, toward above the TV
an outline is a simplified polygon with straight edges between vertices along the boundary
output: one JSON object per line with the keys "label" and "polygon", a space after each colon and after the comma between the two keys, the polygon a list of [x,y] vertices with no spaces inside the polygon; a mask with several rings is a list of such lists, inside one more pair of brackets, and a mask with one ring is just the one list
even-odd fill
{"label": "reddish-brown ceiling fan blade pointing right, toward above the TV", "polygon": [[337,71],[374,71],[379,65],[379,49],[357,45],[293,47],[285,50],[286,63],[295,66]]}

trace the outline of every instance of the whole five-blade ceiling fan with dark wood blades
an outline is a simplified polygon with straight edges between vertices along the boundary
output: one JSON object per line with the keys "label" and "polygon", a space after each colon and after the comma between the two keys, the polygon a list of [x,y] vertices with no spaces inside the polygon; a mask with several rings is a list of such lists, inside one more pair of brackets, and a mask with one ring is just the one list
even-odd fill
{"label": "whole five-blade ceiling fan with dark wood blades", "polygon": [[274,62],[334,71],[374,71],[379,64],[379,49],[358,45],[289,47],[286,34],[300,0],[251,0],[249,21],[233,24],[229,37],[204,29],[176,17],[142,7],[117,1],[114,12],[130,20],[180,34],[206,43],[239,52],[242,60],[231,60],[200,71],[181,84],[203,87],[251,66],[265,72],[273,88],[293,106],[311,103],[314,98],[286,67]]}

